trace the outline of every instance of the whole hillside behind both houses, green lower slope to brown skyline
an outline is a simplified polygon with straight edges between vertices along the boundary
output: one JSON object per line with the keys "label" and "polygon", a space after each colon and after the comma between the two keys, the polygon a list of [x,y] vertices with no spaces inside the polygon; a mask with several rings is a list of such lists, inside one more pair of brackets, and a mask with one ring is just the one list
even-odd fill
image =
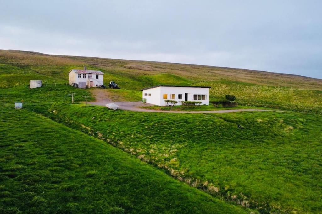
{"label": "whole hillside behind both houses, green lower slope to brown skyline", "polygon": [[[116,81],[122,89],[135,90],[134,97],[128,96],[130,92],[112,92],[116,97],[128,100],[139,99],[137,90],[157,84],[209,85],[212,87],[210,95],[213,99],[232,93],[243,105],[319,113],[322,108],[322,80],[297,75],[189,64],[54,56],[8,50],[0,50],[0,63],[56,77],[61,81],[68,80],[71,68],[87,65],[88,69],[103,71],[105,83]],[[8,87],[8,82],[13,81],[8,79],[13,79],[13,76],[6,75],[8,74],[1,73],[0,66],[0,87]],[[25,76],[24,84],[28,84],[26,81],[30,78],[32,77]],[[16,81],[13,85],[23,84],[22,82]]]}

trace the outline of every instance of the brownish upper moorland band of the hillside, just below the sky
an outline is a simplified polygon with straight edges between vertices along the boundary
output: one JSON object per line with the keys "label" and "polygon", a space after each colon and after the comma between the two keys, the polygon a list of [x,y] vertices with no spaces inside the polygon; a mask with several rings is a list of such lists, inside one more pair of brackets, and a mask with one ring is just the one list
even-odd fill
{"label": "brownish upper moorland band of the hillside, just below the sky", "polygon": [[[247,69],[214,67],[194,64],[132,61],[98,57],[47,55],[29,51],[0,50],[0,63],[28,67],[35,71],[63,79],[68,67],[88,65],[116,75],[151,75],[171,73],[193,82],[199,81],[240,81],[268,86],[285,86],[299,89],[322,90],[322,80],[293,74],[270,73]],[[55,73],[51,67],[57,68]],[[67,69],[67,70],[66,70]],[[132,75],[131,75],[132,74]],[[64,75],[64,76],[62,76]]]}

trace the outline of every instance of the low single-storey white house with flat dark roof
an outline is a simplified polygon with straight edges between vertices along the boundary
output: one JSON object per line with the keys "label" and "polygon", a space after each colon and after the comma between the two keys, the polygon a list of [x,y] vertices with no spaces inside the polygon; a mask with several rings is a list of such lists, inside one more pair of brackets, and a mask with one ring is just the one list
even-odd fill
{"label": "low single-storey white house with flat dark roof", "polygon": [[209,105],[208,86],[178,86],[178,85],[156,85],[142,89],[142,98],[147,103],[157,106],[165,106],[165,100],[175,100],[181,105],[180,101],[200,101],[201,105]]}

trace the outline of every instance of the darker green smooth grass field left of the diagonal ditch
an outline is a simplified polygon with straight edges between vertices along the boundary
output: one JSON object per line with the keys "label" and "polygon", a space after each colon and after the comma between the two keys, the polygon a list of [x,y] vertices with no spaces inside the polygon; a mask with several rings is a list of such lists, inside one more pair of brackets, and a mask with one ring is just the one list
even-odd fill
{"label": "darker green smooth grass field left of the diagonal ditch", "polygon": [[104,141],[26,110],[1,112],[1,213],[246,213]]}

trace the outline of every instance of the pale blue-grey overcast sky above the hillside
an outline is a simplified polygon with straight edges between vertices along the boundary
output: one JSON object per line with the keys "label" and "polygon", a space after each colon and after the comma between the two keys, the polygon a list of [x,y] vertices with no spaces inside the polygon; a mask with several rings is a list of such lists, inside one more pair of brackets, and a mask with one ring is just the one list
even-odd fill
{"label": "pale blue-grey overcast sky above the hillside", "polygon": [[322,1],[1,0],[0,49],[322,78]]}

